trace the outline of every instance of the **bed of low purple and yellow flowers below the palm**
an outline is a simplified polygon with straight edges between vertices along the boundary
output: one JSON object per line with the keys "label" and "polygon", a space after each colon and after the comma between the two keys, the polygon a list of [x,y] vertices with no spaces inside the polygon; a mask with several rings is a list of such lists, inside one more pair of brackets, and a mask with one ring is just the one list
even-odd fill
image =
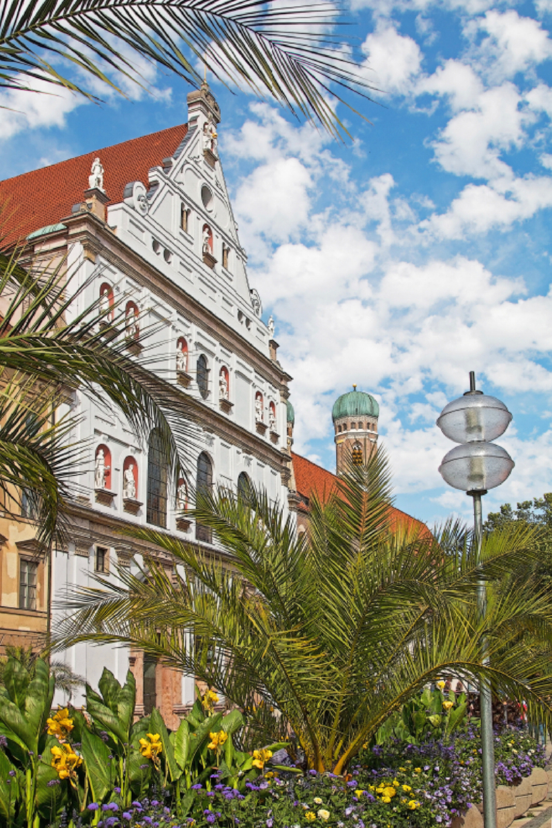
{"label": "bed of low purple and yellow flowers below the palm", "polygon": [[[544,767],[545,752],[525,731],[495,736],[497,784]],[[268,766],[266,766],[268,767]],[[266,770],[266,768],[265,768]],[[348,777],[310,771],[264,773],[243,792],[223,773],[194,785],[187,816],[175,814],[170,791],[157,791],[122,809],[117,795],[94,816],[99,828],[428,828],[450,826],[481,801],[478,732],[468,727],[449,744],[393,744],[365,750]]]}

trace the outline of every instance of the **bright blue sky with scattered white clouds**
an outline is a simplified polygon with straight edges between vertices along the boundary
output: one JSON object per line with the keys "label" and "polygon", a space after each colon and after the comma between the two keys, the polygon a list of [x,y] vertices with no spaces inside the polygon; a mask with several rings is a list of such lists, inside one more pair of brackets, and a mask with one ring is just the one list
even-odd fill
{"label": "bright blue sky with scattered white clouds", "polygon": [[[435,420],[470,370],[513,415],[497,442],[516,467],[485,512],[552,490],[552,0],[352,3],[377,87],[364,118],[338,104],[352,138],[210,79],[219,152],[293,377],[295,450],[334,470],[331,408],[356,383],[380,404],[396,506],[469,519]],[[183,123],[190,88],[139,68],[150,91],[101,106],[0,94],[0,178]]]}

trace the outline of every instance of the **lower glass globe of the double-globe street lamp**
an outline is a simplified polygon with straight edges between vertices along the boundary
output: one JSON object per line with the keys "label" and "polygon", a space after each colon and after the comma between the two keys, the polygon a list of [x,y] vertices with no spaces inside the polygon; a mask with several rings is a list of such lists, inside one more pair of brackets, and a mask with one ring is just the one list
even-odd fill
{"label": "lower glass globe of the double-globe street lamp", "polygon": [[500,445],[469,442],[455,445],[444,456],[439,472],[449,486],[472,492],[500,486],[514,465],[511,456]]}

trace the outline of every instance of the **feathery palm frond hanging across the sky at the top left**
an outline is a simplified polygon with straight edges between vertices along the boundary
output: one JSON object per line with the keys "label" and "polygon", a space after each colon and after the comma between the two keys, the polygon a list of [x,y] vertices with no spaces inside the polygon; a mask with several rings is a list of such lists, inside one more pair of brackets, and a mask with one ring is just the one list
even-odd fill
{"label": "feathery palm frond hanging across the sky at the top left", "polygon": [[60,64],[70,61],[121,92],[109,72],[142,84],[128,51],[198,86],[196,60],[337,134],[343,124],[328,103],[328,84],[334,97],[336,87],[364,97],[371,88],[351,44],[335,34],[337,9],[332,2],[265,0],[7,0],[0,11],[0,86],[32,90],[38,79],[96,99]]}

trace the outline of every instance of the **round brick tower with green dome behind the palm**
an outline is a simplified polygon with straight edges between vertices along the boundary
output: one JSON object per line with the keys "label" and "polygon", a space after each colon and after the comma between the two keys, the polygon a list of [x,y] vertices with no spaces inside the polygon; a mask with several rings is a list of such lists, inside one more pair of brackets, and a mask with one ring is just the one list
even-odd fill
{"label": "round brick tower with green dome behind the palm", "polygon": [[343,474],[346,459],[366,463],[377,444],[377,418],[380,407],[371,394],[353,391],[342,394],[334,402],[332,420],[335,430],[336,471]]}

